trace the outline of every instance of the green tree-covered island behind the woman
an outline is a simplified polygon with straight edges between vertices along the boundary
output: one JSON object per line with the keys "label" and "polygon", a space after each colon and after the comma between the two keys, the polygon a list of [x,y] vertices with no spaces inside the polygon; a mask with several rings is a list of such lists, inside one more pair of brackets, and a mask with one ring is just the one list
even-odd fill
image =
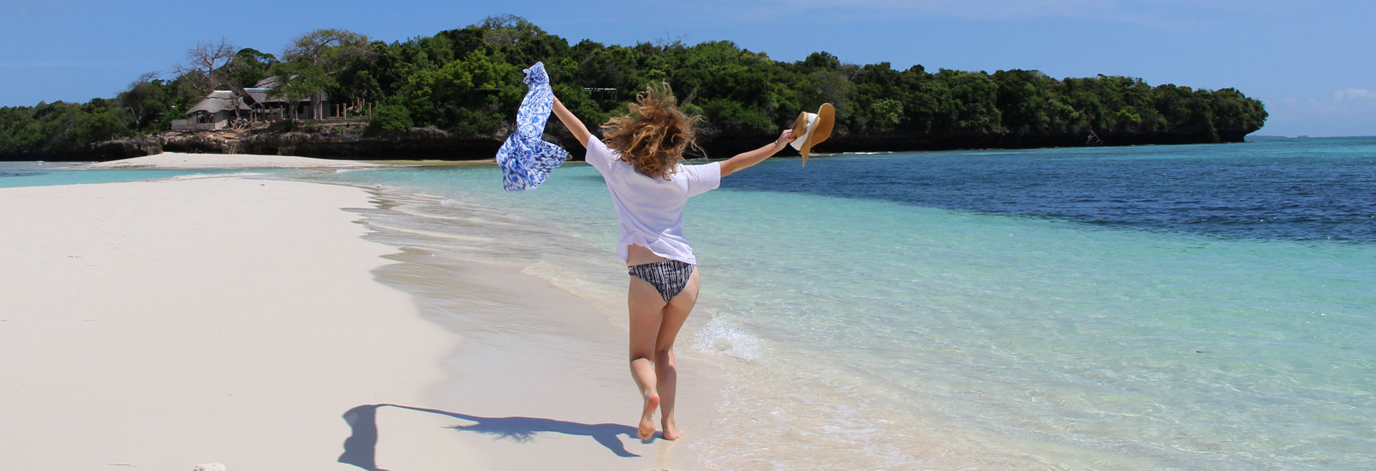
{"label": "green tree-covered island behind the woman", "polygon": [[[327,96],[372,120],[332,128],[314,116],[288,116],[248,131],[263,135],[246,140],[249,151],[484,158],[513,128],[526,92],[522,69],[538,61],[590,127],[621,113],[645,84],[669,83],[688,110],[706,117],[702,145],[713,157],[753,149],[823,102],[837,107],[823,151],[1240,142],[1267,116],[1233,88],[1152,87],[1102,74],[1057,80],[1036,70],[894,70],[827,52],[779,62],[731,41],[568,44],[509,15],[396,43],[315,30],[282,56],[222,40],[190,50],[187,59],[171,77],[144,74],[114,98],[0,107],[0,160],[129,157],[128,146],[109,140],[161,135],[212,91],[246,96],[270,77],[277,99]],[[560,127],[550,131],[572,143]],[[286,149],[283,139],[297,145]]]}

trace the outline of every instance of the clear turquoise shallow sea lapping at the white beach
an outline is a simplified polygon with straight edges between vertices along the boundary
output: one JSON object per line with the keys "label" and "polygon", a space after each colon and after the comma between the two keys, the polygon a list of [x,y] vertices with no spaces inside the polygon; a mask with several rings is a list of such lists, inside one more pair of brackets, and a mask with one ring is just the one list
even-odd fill
{"label": "clear turquoise shallow sea lapping at the white beach", "polygon": [[[1080,215],[1025,194],[995,198],[1031,201],[1024,211],[959,208],[877,194],[863,179],[849,183],[859,193],[849,197],[808,183],[886,163],[977,174],[996,171],[991,158],[1071,168],[1064,160],[1094,167],[1098,156],[1116,165],[1186,163],[1186,174],[1203,175],[1200,193],[1269,191],[1245,179],[1284,179],[1269,171],[1278,164],[1332,185],[1318,167],[1342,167],[1357,187],[1318,193],[1343,198],[1362,191],[1376,167],[1369,142],[1337,146],[1346,150],[1318,151],[1340,154],[1336,163],[1310,165],[1295,161],[1310,154],[1287,157],[1295,146],[1181,146],[1071,158],[1062,158],[1069,150],[841,156],[806,169],[780,158],[747,171],[775,175],[768,189],[728,178],[689,202],[685,222],[705,275],[685,354],[728,376],[722,416],[698,452],[740,470],[1366,468],[1376,463],[1376,245],[1361,236],[1373,224],[1362,219],[1369,201],[1315,213],[1331,226],[1293,222],[1313,234],[1227,222],[1215,234],[1157,222],[1249,218],[1276,197],[1251,194],[1227,209],[1238,197],[1223,193],[1210,196],[1219,204],[1203,219],[1171,213],[1179,204],[1171,202],[1137,209],[1145,223],[1131,215],[1104,223],[1104,209]],[[1271,167],[1248,174],[1237,158]],[[1057,179],[1043,183],[1094,194],[1097,172],[1050,172]],[[1221,185],[1229,172],[1244,175]],[[400,244],[522,264],[599,302],[614,324],[622,315],[615,215],[590,167],[566,165],[545,187],[515,194],[499,190],[495,168],[325,179],[409,194],[395,208],[405,216],[377,219]],[[987,187],[937,190],[989,197]],[[1331,237],[1333,227],[1343,236]]]}

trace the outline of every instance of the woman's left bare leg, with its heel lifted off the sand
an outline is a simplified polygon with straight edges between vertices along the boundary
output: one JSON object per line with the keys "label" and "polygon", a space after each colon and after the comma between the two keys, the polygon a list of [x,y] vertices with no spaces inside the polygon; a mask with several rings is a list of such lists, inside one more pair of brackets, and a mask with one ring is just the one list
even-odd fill
{"label": "woman's left bare leg, with its heel lifted off the sand", "polygon": [[640,426],[636,435],[640,439],[655,437],[655,408],[659,406],[658,379],[652,355],[663,321],[665,299],[648,281],[630,277],[626,295],[630,307],[630,377],[640,388],[644,408],[640,412]]}

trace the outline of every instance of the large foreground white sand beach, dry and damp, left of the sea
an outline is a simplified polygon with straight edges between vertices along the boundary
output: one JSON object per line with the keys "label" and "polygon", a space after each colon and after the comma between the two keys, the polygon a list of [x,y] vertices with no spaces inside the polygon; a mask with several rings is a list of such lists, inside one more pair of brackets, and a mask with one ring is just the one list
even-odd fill
{"label": "large foreground white sand beach, dry and damp, left of the sea", "polygon": [[465,266],[453,284],[505,315],[471,342],[377,280],[398,251],[341,211],[369,207],[237,178],[0,189],[7,467],[702,468],[703,366],[689,435],[640,442],[625,336],[590,303]]}

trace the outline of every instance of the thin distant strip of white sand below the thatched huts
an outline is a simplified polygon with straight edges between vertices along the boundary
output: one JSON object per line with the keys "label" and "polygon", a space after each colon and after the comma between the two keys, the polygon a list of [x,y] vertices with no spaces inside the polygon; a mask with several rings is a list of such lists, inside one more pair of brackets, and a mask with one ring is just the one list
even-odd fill
{"label": "thin distant strip of white sand below the thatched huts", "polygon": [[189,154],[179,151],[165,151],[161,154],[110,160],[103,163],[76,165],[76,169],[103,169],[103,168],[358,168],[378,167],[380,164],[362,163],[354,160],[330,160],[296,156],[261,156],[261,154]]}

